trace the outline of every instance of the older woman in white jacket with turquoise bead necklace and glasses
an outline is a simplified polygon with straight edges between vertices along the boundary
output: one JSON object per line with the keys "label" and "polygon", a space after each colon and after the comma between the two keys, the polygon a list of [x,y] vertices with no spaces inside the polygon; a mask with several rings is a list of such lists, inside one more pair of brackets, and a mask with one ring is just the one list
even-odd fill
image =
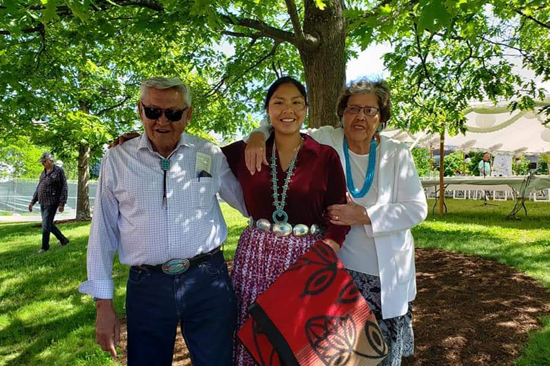
{"label": "older woman in white jacket with turquoise bead necklace and glasses", "polygon": [[[386,82],[352,82],[338,100],[337,114],[343,127],[303,132],[333,147],[345,167],[348,204],[328,207],[332,223],[351,226],[338,256],[375,313],[389,347],[381,365],[398,366],[414,351],[416,280],[410,229],[426,218],[426,197],[408,147],[379,135],[391,115]],[[252,174],[267,163],[268,131],[261,126],[250,136],[245,155]]]}

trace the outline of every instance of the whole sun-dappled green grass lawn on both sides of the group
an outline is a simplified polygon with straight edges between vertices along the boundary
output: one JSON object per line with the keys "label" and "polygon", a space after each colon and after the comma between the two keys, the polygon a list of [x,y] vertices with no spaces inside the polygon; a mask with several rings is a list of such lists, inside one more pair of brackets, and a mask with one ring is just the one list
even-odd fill
{"label": "whole sun-dappled green grass lawn on both sides of the group", "polygon": [[[493,258],[550,288],[550,205],[527,202],[529,216],[505,221],[511,202],[498,202],[498,207],[479,203],[450,200],[446,216],[429,215],[414,229],[416,246]],[[222,209],[229,227],[224,249],[232,258],[246,219],[227,205]],[[86,278],[90,224],[64,224],[71,243],[53,245],[41,256],[36,255],[41,230],[35,226],[0,223],[0,366],[117,364],[95,344],[95,309],[90,296],[77,290]],[[121,313],[127,271],[118,262],[114,266],[115,303]],[[550,317],[544,322],[518,365],[550,364]]]}

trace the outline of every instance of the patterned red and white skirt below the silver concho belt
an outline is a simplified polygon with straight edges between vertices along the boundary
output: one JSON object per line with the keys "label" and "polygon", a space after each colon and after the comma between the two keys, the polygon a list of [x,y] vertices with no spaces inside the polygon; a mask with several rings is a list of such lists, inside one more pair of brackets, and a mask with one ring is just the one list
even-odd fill
{"label": "patterned red and white skirt below the silver concho belt", "polygon": [[[237,330],[249,318],[248,308],[256,298],[321,238],[321,235],[277,237],[272,232],[262,232],[257,228],[244,230],[231,274],[237,296]],[[235,366],[257,365],[236,336],[234,345]]]}

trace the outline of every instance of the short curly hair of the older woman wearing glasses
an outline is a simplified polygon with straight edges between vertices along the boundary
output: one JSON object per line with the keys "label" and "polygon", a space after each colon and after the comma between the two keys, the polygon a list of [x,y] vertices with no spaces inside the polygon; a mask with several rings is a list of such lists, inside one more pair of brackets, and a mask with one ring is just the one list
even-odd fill
{"label": "short curly hair of the older woman wearing glasses", "polygon": [[386,122],[392,116],[392,102],[390,100],[388,84],[385,80],[362,78],[354,80],[344,87],[336,105],[336,114],[340,119],[344,116],[344,110],[348,106],[349,97],[353,94],[374,94],[380,108],[381,123],[383,126],[386,126]]}

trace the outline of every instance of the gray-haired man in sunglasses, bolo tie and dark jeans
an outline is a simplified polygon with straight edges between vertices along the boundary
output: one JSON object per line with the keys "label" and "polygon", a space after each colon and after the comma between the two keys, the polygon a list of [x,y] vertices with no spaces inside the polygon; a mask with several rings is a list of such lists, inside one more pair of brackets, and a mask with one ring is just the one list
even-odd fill
{"label": "gray-haired man in sunglasses, bolo tie and dark jeans", "polygon": [[184,133],[193,109],[181,81],[144,81],[138,109],[145,134],[107,151],[101,166],[79,288],[96,300],[96,341],[116,357],[118,251],[130,266],[129,366],[172,365],[179,324],[193,365],[230,365],[236,307],[216,193],[246,215],[243,193],[221,150]]}

